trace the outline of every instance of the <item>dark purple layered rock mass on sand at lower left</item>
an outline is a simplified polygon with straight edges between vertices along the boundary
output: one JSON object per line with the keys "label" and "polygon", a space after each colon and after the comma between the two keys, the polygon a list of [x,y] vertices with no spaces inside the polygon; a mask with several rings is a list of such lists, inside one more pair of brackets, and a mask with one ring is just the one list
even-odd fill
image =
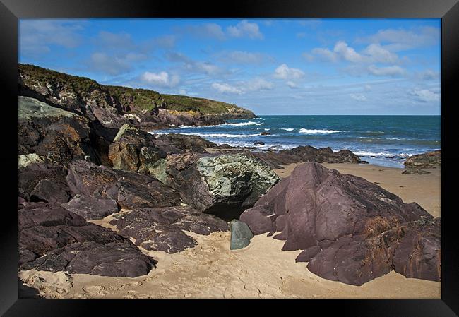
{"label": "dark purple layered rock mass on sand at lower left", "polygon": [[46,203],[18,208],[20,269],[135,277],[155,268],[129,239],[64,208]]}

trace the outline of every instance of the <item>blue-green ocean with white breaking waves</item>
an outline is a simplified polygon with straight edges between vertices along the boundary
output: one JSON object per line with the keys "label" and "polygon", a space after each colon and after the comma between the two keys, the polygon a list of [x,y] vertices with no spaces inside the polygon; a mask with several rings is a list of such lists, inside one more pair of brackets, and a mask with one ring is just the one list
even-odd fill
{"label": "blue-green ocean with white breaking waves", "polygon": [[[262,132],[270,134],[261,136]],[[257,150],[299,145],[348,149],[371,164],[403,168],[407,157],[441,148],[441,116],[258,116],[152,133],[193,134],[217,144]],[[256,142],[265,144],[254,145]]]}

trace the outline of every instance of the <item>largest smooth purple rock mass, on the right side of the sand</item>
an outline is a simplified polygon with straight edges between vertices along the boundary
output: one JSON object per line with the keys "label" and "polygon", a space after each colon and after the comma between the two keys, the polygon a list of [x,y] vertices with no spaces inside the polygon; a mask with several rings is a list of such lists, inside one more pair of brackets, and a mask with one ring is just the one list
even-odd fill
{"label": "largest smooth purple rock mass, on the right side of the sand", "polygon": [[274,238],[285,240],[282,250],[304,250],[297,261],[329,280],[362,285],[394,268],[407,277],[441,279],[441,220],[365,179],[314,162],[296,167],[240,220],[254,234],[280,232]]}

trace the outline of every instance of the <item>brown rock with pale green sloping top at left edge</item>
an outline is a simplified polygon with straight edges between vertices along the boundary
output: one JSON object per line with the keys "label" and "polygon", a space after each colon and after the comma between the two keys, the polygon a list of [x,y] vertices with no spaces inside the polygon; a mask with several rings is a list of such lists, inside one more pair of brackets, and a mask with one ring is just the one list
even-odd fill
{"label": "brown rock with pale green sloping top at left edge", "polygon": [[64,167],[87,155],[100,162],[91,145],[88,124],[83,116],[18,97],[18,155],[35,154]]}

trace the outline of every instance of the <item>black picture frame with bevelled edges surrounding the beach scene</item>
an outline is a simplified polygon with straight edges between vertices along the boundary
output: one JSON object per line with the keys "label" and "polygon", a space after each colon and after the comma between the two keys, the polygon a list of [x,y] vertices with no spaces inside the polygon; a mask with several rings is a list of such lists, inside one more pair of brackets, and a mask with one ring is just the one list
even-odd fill
{"label": "black picture frame with bevelled edges surrounding the beach scene", "polygon": [[[200,1],[121,1],[121,0],[0,0],[0,83],[1,150],[3,199],[0,229],[0,313],[4,316],[83,316],[103,306],[105,315],[123,311],[140,313],[143,306],[157,307],[169,301],[47,300],[18,299],[17,213],[17,139],[12,138],[17,117],[18,19],[20,18],[441,18],[441,205],[442,205],[442,281],[439,300],[322,300],[290,301],[300,311],[335,309],[350,316],[458,316],[459,314],[459,240],[455,239],[458,154],[455,152],[454,108],[457,107],[455,83],[459,74],[459,4],[458,0],[249,0],[201,4]],[[16,149],[16,152],[15,152]],[[8,216],[8,217],[6,217]],[[140,302],[140,303],[139,303]],[[188,311],[196,301],[181,301],[178,313]],[[232,304],[231,301],[214,301]],[[289,305],[289,309],[292,307]],[[202,304],[202,305],[201,305]],[[208,310],[210,303],[199,303]],[[257,303],[258,304],[258,303]],[[234,305],[239,305],[235,303]],[[234,306],[233,305],[233,306]],[[97,306],[97,307],[96,307]],[[285,306],[277,301],[263,301],[264,308]],[[236,306],[234,306],[235,308]],[[191,307],[190,307],[191,309]],[[199,311],[196,311],[199,312]],[[224,312],[221,309],[213,313]],[[287,312],[287,311],[285,311]],[[155,309],[150,311],[155,313]],[[322,314],[322,313],[321,313]],[[91,316],[90,313],[88,316]]]}

